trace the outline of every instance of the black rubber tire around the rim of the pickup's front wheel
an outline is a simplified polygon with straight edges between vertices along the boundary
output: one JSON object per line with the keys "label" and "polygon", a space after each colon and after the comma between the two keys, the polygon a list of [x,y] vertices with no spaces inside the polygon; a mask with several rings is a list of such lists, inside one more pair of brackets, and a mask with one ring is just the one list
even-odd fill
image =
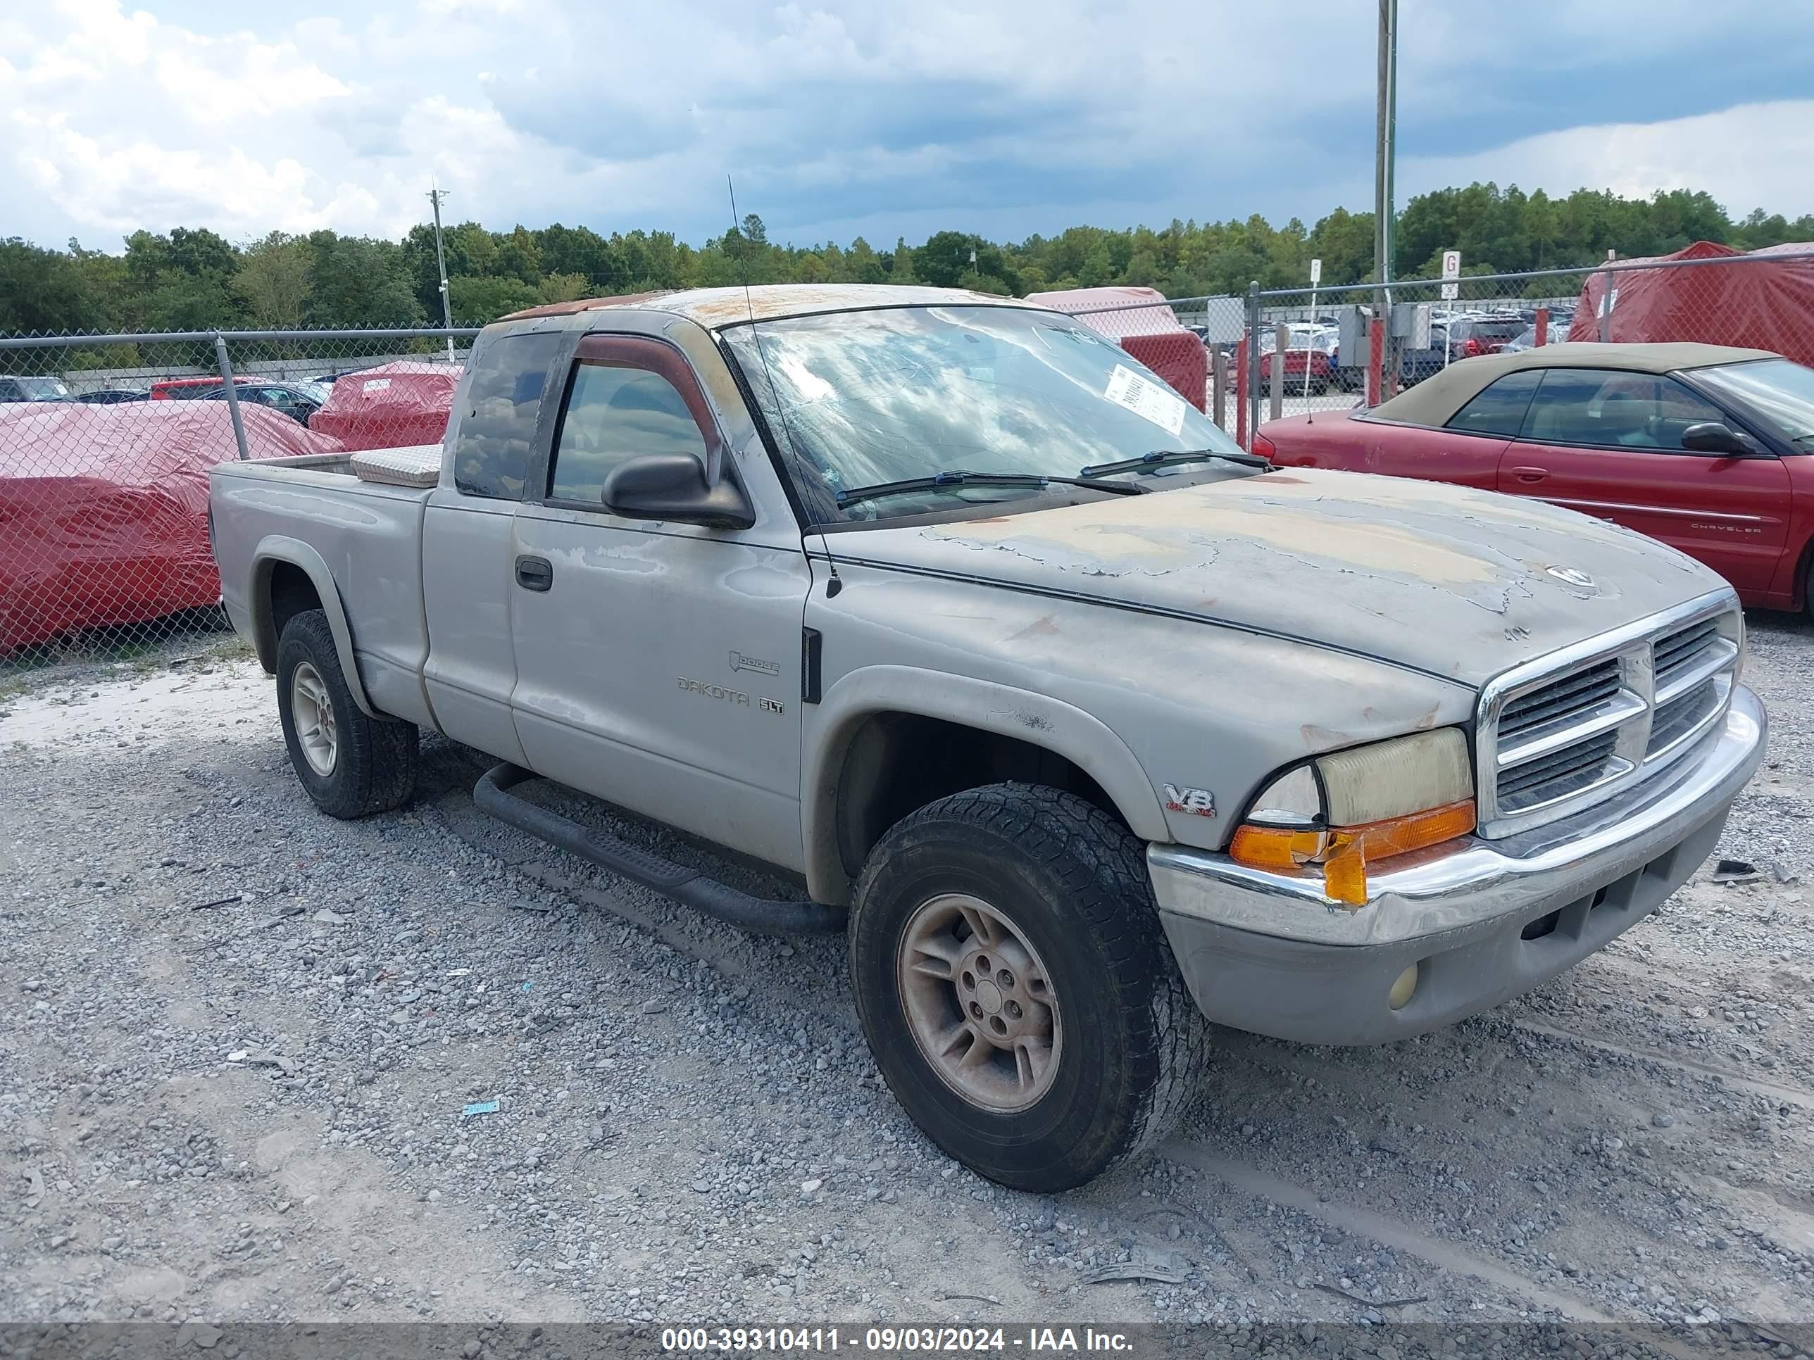
{"label": "black rubber tire around the rim of the pickup's front wheel", "polygon": [[[965,1099],[914,1039],[898,959],[943,894],[1007,912],[1050,976],[1063,1044],[1050,1088],[1003,1113]],[[851,908],[869,1048],[940,1148],[1014,1190],[1070,1190],[1150,1150],[1197,1090],[1208,1026],[1165,941],[1141,843],[1099,807],[1041,785],[941,798],[874,847]]]}

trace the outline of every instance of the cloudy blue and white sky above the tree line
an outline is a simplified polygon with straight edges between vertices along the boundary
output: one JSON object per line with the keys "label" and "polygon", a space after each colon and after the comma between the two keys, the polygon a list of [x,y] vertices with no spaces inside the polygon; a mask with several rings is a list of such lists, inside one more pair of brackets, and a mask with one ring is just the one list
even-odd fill
{"label": "cloudy blue and white sky above the tree line", "polygon": [[[1023,238],[1371,205],[1368,0],[13,0],[0,236]],[[1402,0],[1399,198],[1814,212],[1814,5]]]}

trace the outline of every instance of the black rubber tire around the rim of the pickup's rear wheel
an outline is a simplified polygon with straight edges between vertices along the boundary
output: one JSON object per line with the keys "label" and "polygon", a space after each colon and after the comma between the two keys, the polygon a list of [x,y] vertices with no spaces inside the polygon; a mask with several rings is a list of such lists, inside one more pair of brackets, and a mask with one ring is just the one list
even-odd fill
{"label": "black rubber tire around the rim of the pickup's rear wheel", "polygon": [[[303,754],[297,740],[294,678],[297,665],[314,667],[334,705],[334,767],[321,774]],[[403,807],[415,792],[415,753],[419,733],[410,722],[368,718],[352,700],[341,671],[334,629],[321,609],[307,609],[283,626],[278,640],[278,718],[283,743],[290,751],[296,778],[323,812],[334,818],[363,818]]]}

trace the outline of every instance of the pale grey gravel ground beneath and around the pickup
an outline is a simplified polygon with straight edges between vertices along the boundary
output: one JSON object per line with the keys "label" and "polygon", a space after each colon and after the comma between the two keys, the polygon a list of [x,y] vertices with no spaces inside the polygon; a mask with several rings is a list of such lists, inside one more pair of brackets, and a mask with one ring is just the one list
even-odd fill
{"label": "pale grey gravel ground beneath and around the pickup", "polygon": [[1752,618],[1770,762],[1720,854],[1760,879],[1703,869],[1444,1034],[1219,1030],[1179,1139],[1056,1199],[920,1137],[838,941],[744,936],[490,821],[448,743],[410,809],[330,821],[245,660],[45,678],[0,700],[0,1320],[1094,1318],[1252,1349],[1288,1322],[1380,1356],[1555,1349],[1547,1320],[1790,1356],[1810,660],[1814,629]]}

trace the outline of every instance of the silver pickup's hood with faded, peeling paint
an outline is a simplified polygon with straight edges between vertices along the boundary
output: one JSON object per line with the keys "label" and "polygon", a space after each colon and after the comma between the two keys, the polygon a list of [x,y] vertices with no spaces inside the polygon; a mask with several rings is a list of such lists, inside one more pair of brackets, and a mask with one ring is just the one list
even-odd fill
{"label": "silver pickup's hood with faded, peeling paint", "polygon": [[1727,589],[1653,539],[1538,500],[1310,468],[825,542],[838,560],[1226,624],[1468,685]]}

